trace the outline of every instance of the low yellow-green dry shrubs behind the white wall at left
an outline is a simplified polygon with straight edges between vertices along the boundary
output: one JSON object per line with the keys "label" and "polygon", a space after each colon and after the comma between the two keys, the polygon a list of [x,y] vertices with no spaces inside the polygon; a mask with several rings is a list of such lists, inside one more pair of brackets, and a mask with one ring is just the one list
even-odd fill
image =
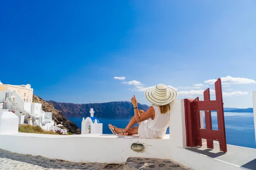
{"label": "low yellow-green dry shrubs behind the white wall at left", "polygon": [[19,125],[19,130],[18,132],[21,133],[41,133],[41,134],[51,134],[51,135],[57,135],[53,131],[46,131],[42,129],[40,126],[32,126],[32,125]]}

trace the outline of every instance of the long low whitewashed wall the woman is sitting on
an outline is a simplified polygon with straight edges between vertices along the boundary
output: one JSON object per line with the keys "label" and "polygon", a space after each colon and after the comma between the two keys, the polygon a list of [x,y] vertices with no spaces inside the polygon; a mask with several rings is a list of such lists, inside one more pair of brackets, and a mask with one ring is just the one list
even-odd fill
{"label": "long low whitewashed wall the woman is sitting on", "polygon": [[[169,135],[167,135],[169,138]],[[50,159],[74,162],[120,163],[128,157],[172,159],[195,170],[237,170],[231,164],[200,153],[175,147],[169,139],[140,139],[114,135],[47,135],[32,133],[0,134],[0,148],[15,153],[40,155]],[[29,150],[24,147],[29,141]],[[131,150],[140,142],[144,153]],[[38,147],[43,146],[43,147]],[[67,147],[68,146],[68,147]],[[63,150],[63,148],[65,148]],[[54,150],[54,152],[49,152]],[[230,149],[230,152],[232,150]],[[109,155],[111,153],[111,156]],[[241,154],[241,153],[238,153]]]}

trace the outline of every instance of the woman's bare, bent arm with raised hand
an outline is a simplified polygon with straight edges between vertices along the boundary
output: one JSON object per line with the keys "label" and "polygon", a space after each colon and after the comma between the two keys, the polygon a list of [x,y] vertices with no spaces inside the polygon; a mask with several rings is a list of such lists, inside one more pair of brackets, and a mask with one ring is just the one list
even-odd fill
{"label": "woman's bare, bent arm with raised hand", "polygon": [[134,116],[137,122],[142,122],[144,120],[147,120],[149,118],[151,118],[152,116],[154,116],[154,108],[151,106],[148,108],[147,111],[145,111],[145,113],[143,113],[142,115],[140,115],[139,110],[138,110],[138,101],[136,99],[135,96],[133,96],[131,98],[131,103],[134,105]]}

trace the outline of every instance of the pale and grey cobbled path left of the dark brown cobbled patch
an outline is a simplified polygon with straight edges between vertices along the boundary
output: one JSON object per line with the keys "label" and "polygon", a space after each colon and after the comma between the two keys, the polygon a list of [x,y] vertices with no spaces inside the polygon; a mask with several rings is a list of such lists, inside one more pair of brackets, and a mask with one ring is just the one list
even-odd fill
{"label": "pale and grey cobbled path left of the dark brown cobbled patch", "polygon": [[[77,163],[0,149],[0,170],[102,170],[107,164]],[[117,170],[122,170],[123,165]]]}

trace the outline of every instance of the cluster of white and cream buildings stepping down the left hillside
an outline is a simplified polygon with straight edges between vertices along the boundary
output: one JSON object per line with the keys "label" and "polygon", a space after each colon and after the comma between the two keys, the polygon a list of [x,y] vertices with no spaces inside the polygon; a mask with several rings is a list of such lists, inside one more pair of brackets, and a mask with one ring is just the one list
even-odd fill
{"label": "cluster of white and cream buildings stepping down the left hillside", "polygon": [[19,124],[28,123],[29,116],[33,125],[44,130],[54,131],[51,112],[44,112],[41,103],[33,103],[33,89],[27,85],[8,85],[0,82],[0,109],[7,109],[19,118]]}

